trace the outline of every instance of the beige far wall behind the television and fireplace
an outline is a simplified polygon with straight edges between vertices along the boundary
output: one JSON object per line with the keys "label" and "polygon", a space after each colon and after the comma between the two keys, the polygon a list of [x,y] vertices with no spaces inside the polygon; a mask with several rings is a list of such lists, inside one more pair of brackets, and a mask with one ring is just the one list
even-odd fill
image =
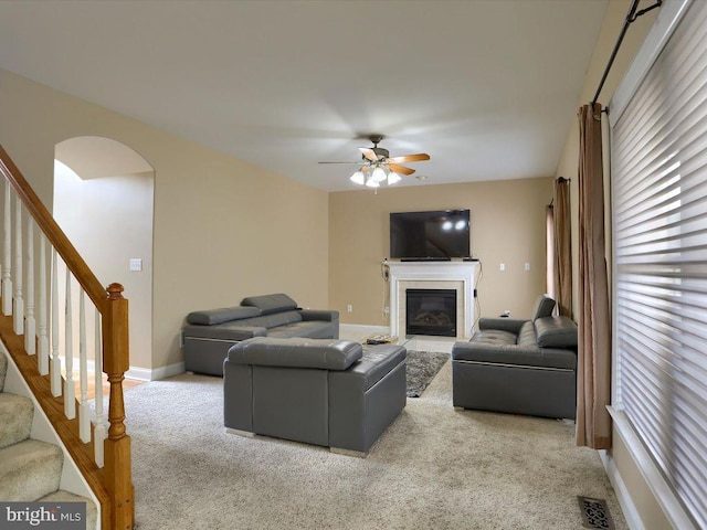
{"label": "beige far wall behind the television and fireplace", "polygon": [[528,316],[546,290],[545,206],[551,198],[550,178],[330,193],[330,306],[345,324],[388,326],[380,265],[389,254],[389,213],[469,209],[472,252],[483,264],[481,314]]}

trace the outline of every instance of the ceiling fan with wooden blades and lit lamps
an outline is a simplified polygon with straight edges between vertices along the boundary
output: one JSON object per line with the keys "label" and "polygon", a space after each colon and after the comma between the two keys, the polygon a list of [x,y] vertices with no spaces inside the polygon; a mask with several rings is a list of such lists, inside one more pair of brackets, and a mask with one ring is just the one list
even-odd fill
{"label": "ceiling fan with wooden blades and lit lamps", "polygon": [[419,152],[416,155],[404,155],[391,157],[388,149],[378,147],[383,139],[382,135],[371,135],[368,137],[373,147],[359,147],[361,161],[358,162],[319,162],[319,163],[356,163],[360,168],[351,176],[351,181],[356,184],[366,184],[370,188],[378,188],[381,182],[394,184],[401,180],[401,174],[408,176],[415,172],[414,169],[401,166],[401,163],[420,162],[430,160],[430,155]]}

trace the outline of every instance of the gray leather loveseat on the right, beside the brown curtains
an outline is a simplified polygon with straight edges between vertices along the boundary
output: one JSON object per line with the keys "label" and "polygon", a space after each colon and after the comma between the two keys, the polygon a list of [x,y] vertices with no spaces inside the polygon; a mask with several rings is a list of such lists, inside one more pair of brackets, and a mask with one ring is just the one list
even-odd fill
{"label": "gray leather loveseat on the right, beside the brown curtains", "polygon": [[454,406],[574,418],[577,325],[550,316],[553,307],[542,296],[532,318],[482,318],[469,341],[455,342]]}

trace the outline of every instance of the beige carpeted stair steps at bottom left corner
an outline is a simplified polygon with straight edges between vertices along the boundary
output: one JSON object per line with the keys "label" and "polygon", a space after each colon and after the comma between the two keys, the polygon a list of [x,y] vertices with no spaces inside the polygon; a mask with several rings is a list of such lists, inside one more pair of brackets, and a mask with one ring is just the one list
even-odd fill
{"label": "beige carpeted stair steps at bottom left corner", "polygon": [[59,489],[63,451],[30,437],[34,405],[4,392],[8,358],[0,352],[0,499],[3,501],[86,502],[86,529],[96,528],[96,505],[86,497]]}

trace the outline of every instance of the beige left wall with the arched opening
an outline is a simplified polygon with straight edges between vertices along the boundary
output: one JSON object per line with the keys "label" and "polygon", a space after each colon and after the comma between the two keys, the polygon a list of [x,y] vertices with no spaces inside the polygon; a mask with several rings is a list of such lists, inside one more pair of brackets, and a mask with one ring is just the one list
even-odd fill
{"label": "beige left wall with the arched opening", "polygon": [[[0,70],[0,144],[45,204],[54,146],[101,136],[155,168],[151,365],[182,360],[184,316],[285,292],[328,303],[327,193]],[[112,278],[101,278],[104,283]]]}

